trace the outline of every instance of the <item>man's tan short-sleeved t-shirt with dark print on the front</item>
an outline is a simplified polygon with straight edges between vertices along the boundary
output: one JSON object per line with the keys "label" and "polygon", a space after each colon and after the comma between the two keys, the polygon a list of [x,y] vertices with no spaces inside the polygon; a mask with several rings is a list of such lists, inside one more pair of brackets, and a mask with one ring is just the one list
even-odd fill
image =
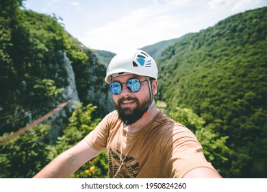
{"label": "man's tan short-sleeved t-shirt with dark print on the front", "polygon": [[106,148],[110,178],[182,178],[196,167],[214,169],[196,136],[162,111],[133,134],[123,128],[118,112],[110,112],[86,141],[94,149]]}

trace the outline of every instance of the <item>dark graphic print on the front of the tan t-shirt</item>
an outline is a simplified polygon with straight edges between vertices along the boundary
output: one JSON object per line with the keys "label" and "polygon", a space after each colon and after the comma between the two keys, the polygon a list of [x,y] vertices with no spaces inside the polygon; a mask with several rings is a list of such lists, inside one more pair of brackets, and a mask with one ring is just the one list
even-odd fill
{"label": "dark graphic print on the front of the tan t-shirt", "polygon": [[[121,157],[121,158],[120,158]],[[138,176],[139,163],[132,156],[125,156],[119,150],[112,151],[110,148],[109,175],[112,178],[136,178]]]}

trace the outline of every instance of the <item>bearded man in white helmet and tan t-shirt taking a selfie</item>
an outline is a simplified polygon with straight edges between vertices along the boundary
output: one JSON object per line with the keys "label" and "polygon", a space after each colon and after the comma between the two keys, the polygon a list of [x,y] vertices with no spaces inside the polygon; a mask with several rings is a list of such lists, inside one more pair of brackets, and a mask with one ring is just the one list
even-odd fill
{"label": "bearded man in white helmet and tan t-shirt taking a selfie", "polygon": [[104,148],[110,178],[221,178],[194,134],[155,107],[157,65],[149,54],[117,54],[105,82],[116,110],[34,178],[68,178]]}

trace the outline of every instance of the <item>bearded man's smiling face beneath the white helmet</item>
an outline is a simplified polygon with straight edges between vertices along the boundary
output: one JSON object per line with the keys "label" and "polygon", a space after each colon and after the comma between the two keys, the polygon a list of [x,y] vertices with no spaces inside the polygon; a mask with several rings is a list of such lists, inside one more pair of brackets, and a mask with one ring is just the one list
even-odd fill
{"label": "bearded man's smiling face beneath the white helmet", "polygon": [[[125,84],[127,80],[133,77],[136,77],[141,82],[140,91],[136,93],[129,91]],[[121,93],[113,95],[113,100],[116,110],[118,110],[118,117],[127,125],[138,121],[144,115],[144,112],[147,112],[151,103],[149,82],[144,80],[147,80],[147,78],[139,75],[120,75],[112,79],[112,82],[123,83]]]}

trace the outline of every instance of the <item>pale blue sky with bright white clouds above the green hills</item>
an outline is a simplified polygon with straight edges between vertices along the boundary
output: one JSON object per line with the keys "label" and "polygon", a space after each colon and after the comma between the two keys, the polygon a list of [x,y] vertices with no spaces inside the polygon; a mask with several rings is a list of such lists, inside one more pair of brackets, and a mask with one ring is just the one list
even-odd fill
{"label": "pale blue sky with bright white clouds above the green hills", "polygon": [[26,0],[27,10],[60,16],[68,33],[90,49],[123,49],[199,32],[267,0]]}

